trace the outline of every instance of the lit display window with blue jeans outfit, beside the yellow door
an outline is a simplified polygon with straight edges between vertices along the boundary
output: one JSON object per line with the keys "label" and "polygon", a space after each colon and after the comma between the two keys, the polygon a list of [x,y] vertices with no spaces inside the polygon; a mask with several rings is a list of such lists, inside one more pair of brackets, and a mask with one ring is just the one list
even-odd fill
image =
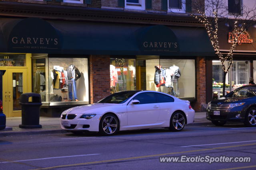
{"label": "lit display window with blue jeans outfit, beside the yellow door", "polygon": [[87,58],[32,59],[33,92],[46,106],[89,104]]}

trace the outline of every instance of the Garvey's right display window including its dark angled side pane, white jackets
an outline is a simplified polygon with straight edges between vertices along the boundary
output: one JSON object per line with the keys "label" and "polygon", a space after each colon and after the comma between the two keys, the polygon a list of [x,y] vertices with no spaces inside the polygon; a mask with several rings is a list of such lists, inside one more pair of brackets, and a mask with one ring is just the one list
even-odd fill
{"label": "Garvey's right display window including its dark angled side pane, white jackets", "polygon": [[160,59],[159,56],[137,56],[137,90],[153,90],[194,100],[196,70],[194,59]]}

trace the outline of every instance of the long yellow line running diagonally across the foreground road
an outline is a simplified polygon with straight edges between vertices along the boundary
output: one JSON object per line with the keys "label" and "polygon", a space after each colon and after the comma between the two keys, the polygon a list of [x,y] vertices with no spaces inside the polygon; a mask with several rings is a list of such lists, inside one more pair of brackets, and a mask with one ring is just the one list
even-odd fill
{"label": "long yellow line running diagonally across the foreground road", "polygon": [[166,156],[166,155],[172,155],[172,154],[183,154],[183,153],[189,153],[189,152],[200,152],[200,151],[214,150],[214,149],[226,149],[226,148],[234,148],[234,147],[245,147],[245,146],[252,146],[252,145],[256,145],[256,143],[250,143],[250,144],[244,144],[244,145],[234,145],[234,146],[227,146],[227,147],[187,150],[187,151],[182,151],[182,152],[170,152],[170,153],[163,153],[163,154],[152,154],[152,155],[136,156],[136,157],[130,157],[130,158],[118,158],[118,159],[110,159],[110,160],[100,160],[100,161],[85,162],[85,163],[79,163],[79,164],[69,164],[69,165],[59,165],[59,166],[52,166],[52,167],[46,167],[46,168],[38,168],[38,169],[33,169],[33,170],[47,170],[47,169],[64,168],[64,167],[70,167],[70,166],[80,166],[80,165],[88,165],[88,164],[100,164],[100,163],[106,163],[106,162],[116,162],[116,161],[122,161],[122,160],[133,160],[133,159],[138,159],[138,158],[150,158],[150,157],[156,157],[156,156]]}

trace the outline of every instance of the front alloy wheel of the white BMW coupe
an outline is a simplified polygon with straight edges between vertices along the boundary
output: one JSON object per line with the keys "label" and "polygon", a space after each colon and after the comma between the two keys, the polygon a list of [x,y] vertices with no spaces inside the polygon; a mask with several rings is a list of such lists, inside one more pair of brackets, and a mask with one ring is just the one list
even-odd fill
{"label": "front alloy wheel of the white BMW coupe", "polygon": [[102,135],[114,135],[118,131],[118,119],[113,114],[104,115],[100,120],[100,133]]}

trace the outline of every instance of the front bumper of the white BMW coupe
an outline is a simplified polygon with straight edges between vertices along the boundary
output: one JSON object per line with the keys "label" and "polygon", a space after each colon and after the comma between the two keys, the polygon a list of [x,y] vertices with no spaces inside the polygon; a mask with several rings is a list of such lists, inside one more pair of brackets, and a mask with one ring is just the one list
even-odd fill
{"label": "front bumper of the white BMW coupe", "polygon": [[[101,115],[95,115],[91,119],[80,119],[80,116],[81,115],[77,115],[74,119],[60,118],[60,127],[66,131],[99,131]],[[68,121],[70,123],[70,127],[63,126],[62,121]]]}

